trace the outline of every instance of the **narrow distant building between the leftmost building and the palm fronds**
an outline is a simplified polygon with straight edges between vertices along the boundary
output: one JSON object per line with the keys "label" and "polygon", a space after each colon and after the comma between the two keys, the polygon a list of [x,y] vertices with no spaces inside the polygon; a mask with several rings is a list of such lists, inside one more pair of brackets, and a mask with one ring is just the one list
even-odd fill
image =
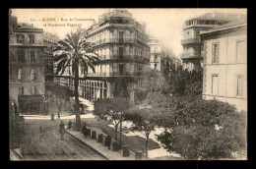
{"label": "narrow distant building between the leftmost building and the palm fronds", "polygon": [[43,32],[43,44],[45,48],[43,53],[45,54],[45,82],[53,81],[53,49],[57,47],[59,37],[56,34]]}

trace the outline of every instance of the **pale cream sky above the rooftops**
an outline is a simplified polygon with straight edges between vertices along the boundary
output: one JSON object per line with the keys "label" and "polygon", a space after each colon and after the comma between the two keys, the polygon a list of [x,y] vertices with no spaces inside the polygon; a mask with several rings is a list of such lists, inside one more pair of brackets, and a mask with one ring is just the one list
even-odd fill
{"label": "pale cream sky above the rooftops", "polygon": [[[78,26],[81,26],[81,28],[91,27],[94,24],[94,20],[97,22],[98,17],[109,10],[113,9],[12,9],[12,16],[18,17],[18,23],[33,24],[35,28],[43,28],[44,31],[57,33],[63,39],[66,33],[78,28]],[[163,45],[171,49],[177,58],[180,58],[183,49],[181,45],[181,39],[183,38],[182,27],[186,20],[210,12],[247,15],[246,9],[129,8],[125,10],[132,13],[132,17],[138,22],[146,23],[146,32],[159,38]],[[47,18],[55,19],[55,21],[43,21]],[[65,24],[65,27],[53,27],[53,24],[62,24],[62,26]],[[68,24],[70,25],[68,26]]]}

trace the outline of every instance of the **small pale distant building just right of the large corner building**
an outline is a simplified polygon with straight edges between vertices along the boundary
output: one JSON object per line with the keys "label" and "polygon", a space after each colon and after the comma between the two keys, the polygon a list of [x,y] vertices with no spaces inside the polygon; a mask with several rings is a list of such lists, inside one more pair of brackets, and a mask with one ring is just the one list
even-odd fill
{"label": "small pale distant building just right of the large corner building", "polygon": [[179,59],[171,56],[171,52],[161,44],[158,38],[150,37],[148,44],[151,48],[150,65],[152,69],[158,71],[171,70],[180,65]]}

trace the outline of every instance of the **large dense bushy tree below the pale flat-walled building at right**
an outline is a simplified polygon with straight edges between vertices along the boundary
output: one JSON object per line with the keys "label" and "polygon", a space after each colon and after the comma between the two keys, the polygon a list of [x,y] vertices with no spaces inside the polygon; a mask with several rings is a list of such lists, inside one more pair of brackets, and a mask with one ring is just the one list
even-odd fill
{"label": "large dense bushy tree below the pale flat-walled building at right", "polygon": [[[231,152],[246,148],[246,114],[237,112],[233,105],[218,100],[182,98],[176,104],[171,96],[176,122],[165,123],[171,132],[163,132],[159,140],[169,151],[185,159],[219,159],[230,157]],[[180,98],[179,98],[180,99]],[[176,104],[176,105],[175,105]],[[164,118],[173,117],[165,116]]]}

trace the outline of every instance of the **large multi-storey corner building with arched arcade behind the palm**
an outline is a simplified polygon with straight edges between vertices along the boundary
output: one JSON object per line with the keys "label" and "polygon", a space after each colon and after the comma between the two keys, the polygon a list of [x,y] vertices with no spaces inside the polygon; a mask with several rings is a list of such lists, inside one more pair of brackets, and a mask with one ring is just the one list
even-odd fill
{"label": "large multi-storey corner building with arched arcade behind the palm", "polygon": [[[81,75],[80,96],[94,100],[121,94],[132,102],[140,99],[143,71],[150,60],[145,25],[136,22],[127,10],[113,10],[103,14],[98,23],[83,34],[95,44],[100,62],[96,65],[96,73],[89,69],[86,78]],[[66,76],[55,76],[54,81],[74,88],[73,77],[68,72]]]}

